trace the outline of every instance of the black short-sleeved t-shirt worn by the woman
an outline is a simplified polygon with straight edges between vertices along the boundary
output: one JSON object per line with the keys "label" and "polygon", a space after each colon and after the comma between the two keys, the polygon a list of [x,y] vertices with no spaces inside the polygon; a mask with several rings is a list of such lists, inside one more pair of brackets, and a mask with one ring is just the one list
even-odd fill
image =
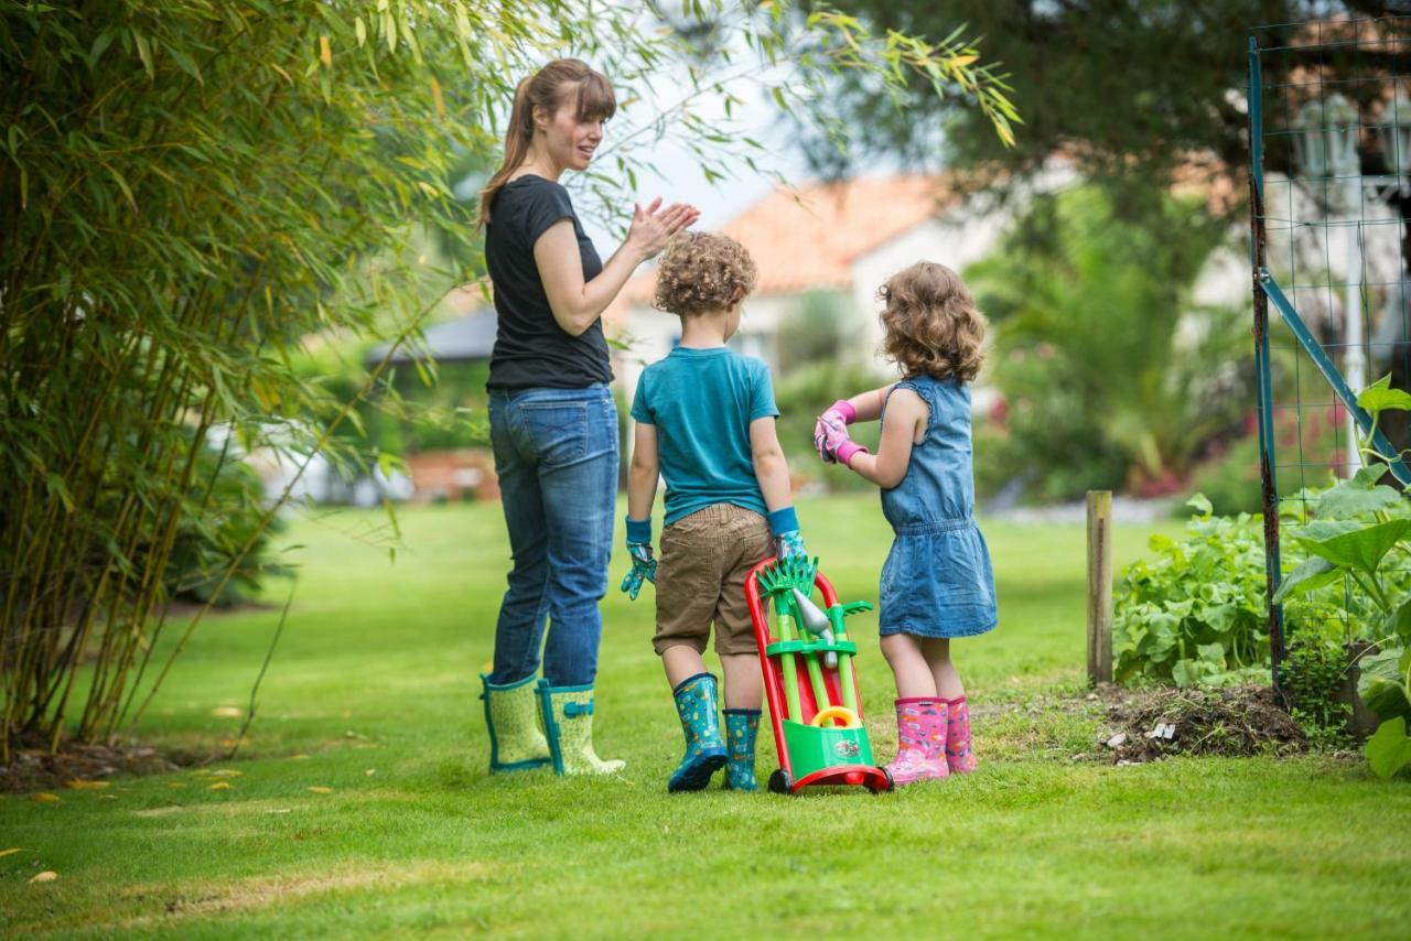
{"label": "black short-sleeved t-shirt worn by the woman", "polygon": [[499,329],[490,356],[492,389],[549,387],[580,389],[594,382],[611,382],[608,343],[602,320],[579,336],[567,334],[553,319],[543,292],[533,244],[560,219],[573,220],[583,260],[583,279],[602,271],[583,224],[573,212],[569,190],[542,176],[521,176],[505,183],[490,205],[485,230],[485,264],[495,288]]}

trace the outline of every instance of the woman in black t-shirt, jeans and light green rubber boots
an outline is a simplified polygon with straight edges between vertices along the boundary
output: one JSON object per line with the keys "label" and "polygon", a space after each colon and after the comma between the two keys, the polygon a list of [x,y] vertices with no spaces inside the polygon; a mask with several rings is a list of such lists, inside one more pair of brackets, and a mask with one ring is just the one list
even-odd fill
{"label": "woman in black t-shirt, jeans and light green rubber boots", "polygon": [[[560,775],[624,766],[593,749],[598,601],[607,593],[618,478],[600,317],[636,267],[698,213],[660,209],[660,199],[635,207],[626,240],[602,264],[559,176],[587,169],[615,110],[602,75],[577,59],[550,62],[515,90],[504,164],[480,192],[499,317],[490,437],[514,553],[494,670],[481,676],[491,772],[550,760]],[[535,684],[546,619],[543,679]]]}

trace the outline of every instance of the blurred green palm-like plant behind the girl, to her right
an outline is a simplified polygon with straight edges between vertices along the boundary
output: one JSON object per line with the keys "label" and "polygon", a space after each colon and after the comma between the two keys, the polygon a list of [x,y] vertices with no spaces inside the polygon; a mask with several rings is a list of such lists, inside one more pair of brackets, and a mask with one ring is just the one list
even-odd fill
{"label": "blurred green palm-like plant behind the girl, to her right", "polygon": [[1041,198],[967,272],[995,324],[992,378],[1036,459],[1115,453],[1130,487],[1171,484],[1237,416],[1243,319],[1192,296],[1223,238],[1199,203],[1163,196],[1125,216],[1084,186]]}

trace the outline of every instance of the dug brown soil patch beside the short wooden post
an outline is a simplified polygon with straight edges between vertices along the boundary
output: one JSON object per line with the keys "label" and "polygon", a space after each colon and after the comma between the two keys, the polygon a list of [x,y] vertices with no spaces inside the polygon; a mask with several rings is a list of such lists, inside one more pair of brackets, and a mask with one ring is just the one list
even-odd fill
{"label": "dug brown soil patch beside the short wooden post", "polygon": [[[1110,697],[1110,698],[1109,698]],[[1267,686],[1226,690],[1106,690],[1115,763],[1167,755],[1294,755],[1308,739]]]}

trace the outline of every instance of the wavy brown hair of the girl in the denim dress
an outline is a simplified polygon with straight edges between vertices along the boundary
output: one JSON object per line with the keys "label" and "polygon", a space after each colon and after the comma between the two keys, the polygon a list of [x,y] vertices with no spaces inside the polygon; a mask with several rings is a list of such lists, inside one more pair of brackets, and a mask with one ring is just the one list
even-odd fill
{"label": "wavy brown hair of the girl in the denim dress", "polygon": [[878,298],[886,305],[882,351],[906,378],[975,378],[985,361],[985,317],[958,274],[934,261],[919,261],[888,278]]}

